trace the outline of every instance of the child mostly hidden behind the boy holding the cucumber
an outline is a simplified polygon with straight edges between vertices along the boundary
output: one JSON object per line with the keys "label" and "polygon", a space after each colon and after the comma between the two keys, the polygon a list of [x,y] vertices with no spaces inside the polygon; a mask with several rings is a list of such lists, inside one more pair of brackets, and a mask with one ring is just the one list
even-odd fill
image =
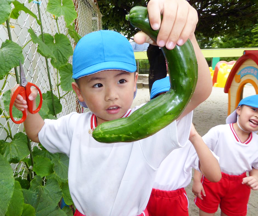
{"label": "child mostly hidden behind the boy holding the cucumber", "polygon": [[[150,91],[150,99],[165,94],[169,88],[168,76],[156,80]],[[184,188],[191,182],[192,167],[201,170],[210,181],[218,182],[221,172],[215,157],[203,141],[198,143],[187,141],[183,148],[172,151],[162,161],[157,171],[147,205],[148,214],[188,216],[188,199]]]}

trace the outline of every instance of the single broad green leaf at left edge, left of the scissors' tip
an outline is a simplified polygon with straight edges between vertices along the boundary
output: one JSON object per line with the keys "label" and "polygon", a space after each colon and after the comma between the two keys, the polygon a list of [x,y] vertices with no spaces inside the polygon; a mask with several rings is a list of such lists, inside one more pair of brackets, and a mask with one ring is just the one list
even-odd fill
{"label": "single broad green leaf at left edge, left of the scissors' tip", "polygon": [[24,62],[22,48],[11,40],[5,40],[0,48],[0,79],[13,68]]}

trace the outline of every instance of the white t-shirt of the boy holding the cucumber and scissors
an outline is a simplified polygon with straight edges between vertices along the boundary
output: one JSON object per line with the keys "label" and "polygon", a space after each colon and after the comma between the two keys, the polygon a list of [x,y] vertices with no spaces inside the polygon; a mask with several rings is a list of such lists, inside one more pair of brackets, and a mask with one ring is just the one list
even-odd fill
{"label": "white t-shirt of the boy holding the cucumber and scissors", "polygon": [[70,157],[69,189],[79,212],[87,216],[140,215],[161,161],[181,147],[177,124],[185,117],[145,139],[107,144],[89,134],[91,125],[94,127],[92,116],[91,112],[71,113],[57,120],[45,119],[39,140],[48,151]]}

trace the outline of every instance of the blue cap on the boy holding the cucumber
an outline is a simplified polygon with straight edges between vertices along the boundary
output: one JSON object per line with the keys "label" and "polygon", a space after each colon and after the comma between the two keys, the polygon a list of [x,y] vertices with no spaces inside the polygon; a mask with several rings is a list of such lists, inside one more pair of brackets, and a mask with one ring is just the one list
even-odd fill
{"label": "blue cap on the boy holding the cucumber", "polygon": [[103,70],[136,71],[132,46],[125,36],[110,30],[85,35],[73,52],[73,78]]}

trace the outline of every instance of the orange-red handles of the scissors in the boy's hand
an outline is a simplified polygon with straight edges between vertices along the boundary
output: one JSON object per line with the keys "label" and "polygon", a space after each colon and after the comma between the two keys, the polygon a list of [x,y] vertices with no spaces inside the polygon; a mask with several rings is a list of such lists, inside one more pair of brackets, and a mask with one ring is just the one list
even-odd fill
{"label": "orange-red handles of the scissors in the boy's hand", "polygon": [[[30,89],[31,86],[34,86],[38,90],[39,95],[40,95],[40,103],[35,110],[33,110],[33,101],[30,101],[29,98],[28,98],[30,93],[31,93],[31,89]],[[38,88],[38,86],[36,86],[35,84],[28,82],[28,84],[26,85],[26,88],[24,88],[22,86],[18,86],[18,88],[13,93],[13,96],[12,96],[11,101],[10,101],[10,106],[9,106],[10,118],[12,119],[12,121],[15,124],[21,124],[22,122],[25,121],[25,119],[27,117],[27,110],[24,109],[24,111],[22,111],[22,118],[19,121],[15,121],[14,118],[13,118],[13,114],[12,114],[13,104],[14,104],[14,101],[15,101],[18,94],[20,94],[23,97],[23,99],[27,101],[28,111],[32,114],[35,114],[38,111],[40,111],[41,106],[42,106],[42,101],[43,101],[42,93],[41,93],[40,89]]]}

